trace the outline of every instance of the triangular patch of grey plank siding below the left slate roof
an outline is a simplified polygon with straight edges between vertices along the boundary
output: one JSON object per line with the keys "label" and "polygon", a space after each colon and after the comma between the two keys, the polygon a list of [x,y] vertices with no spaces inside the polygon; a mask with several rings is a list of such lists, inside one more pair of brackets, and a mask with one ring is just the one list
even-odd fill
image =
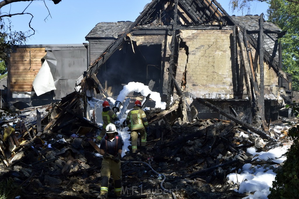
{"label": "triangular patch of grey plank siding below the left slate roof", "polygon": [[90,64],[93,64],[94,61],[103,53],[107,46],[113,42],[113,39],[98,39],[90,41]]}

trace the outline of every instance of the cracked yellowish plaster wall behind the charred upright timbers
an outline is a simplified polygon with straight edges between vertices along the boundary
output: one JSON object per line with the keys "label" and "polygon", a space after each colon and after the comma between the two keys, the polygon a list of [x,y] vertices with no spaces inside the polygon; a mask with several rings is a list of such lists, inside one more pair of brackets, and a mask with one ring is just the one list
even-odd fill
{"label": "cracked yellowish plaster wall behind the charred upright timbers", "polygon": [[[179,49],[176,81],[182,85],[184,92],[193,98],[234,98],[231,39],[232,30],[180,31],[180,42],[185,42],[187,47]],[[259,63],[255,50],[252,53],[254,62]],[[258,66],[258,81],[259,72]],[[277,99],[277,74],[267,63],[264,63],[264,84],[265,98]],[[243,90],[246,94],[245,83]],[[246,97],[243,95],[243,99]]]}

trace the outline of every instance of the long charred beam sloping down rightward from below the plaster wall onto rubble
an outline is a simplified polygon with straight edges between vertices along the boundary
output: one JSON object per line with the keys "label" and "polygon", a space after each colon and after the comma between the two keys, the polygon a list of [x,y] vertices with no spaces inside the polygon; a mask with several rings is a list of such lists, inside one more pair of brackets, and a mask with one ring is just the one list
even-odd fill
{"label": "long charred beam sloping down rightward from below the plaster wall onto rubble", "polygon": [[209,103],[208,101],[202,99],[202,98],[196,98],[197,101],[199,101],[200,103],[204,104],[205,106],[219,112],[221,115],[231,119],[232,121],[236,122],[237,124],[241,125],[242,127],[245,127],[249,130],[251,130],[252,132],[256,133],[257,135],[260,135],[261,138],[266,139],[266,140],[274,140],[274,138],[271,138],[269,135],[267,135],[265,132],[256,129],[254,127],[252,127],[251,125],[247,124],[246,122],[243,122],[241,120],[239,120],[238,118],[234,117],[231,114],[226,113],[224,110],[222,110],[221,108],[218,108],[216,106],[214,106],[213,104]]}

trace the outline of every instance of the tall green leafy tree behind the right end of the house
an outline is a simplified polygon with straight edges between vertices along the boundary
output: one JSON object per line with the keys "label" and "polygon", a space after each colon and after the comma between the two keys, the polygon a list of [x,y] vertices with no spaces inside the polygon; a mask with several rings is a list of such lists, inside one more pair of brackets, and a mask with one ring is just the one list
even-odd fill
{"label": "tall green leafy tree behind the right end of the house", "polygon": [[299,90],[299,4],[286,0],[271,0],[269,4],[269,21],[286,31],[280,38],[283,70],[292,74],[293,90]]}

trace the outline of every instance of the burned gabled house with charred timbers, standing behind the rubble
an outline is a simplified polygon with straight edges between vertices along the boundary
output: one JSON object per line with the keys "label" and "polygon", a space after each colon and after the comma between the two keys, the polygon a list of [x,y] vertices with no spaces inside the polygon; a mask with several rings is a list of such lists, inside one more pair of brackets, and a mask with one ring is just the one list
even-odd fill
{"label": "burned gabled house with charred timbers, standing behind the rubble", "polygon": [[103,22],[91,30],[91,66],[77,88],[91,79],[89,88],[111,97],[129,82],[153,81],[166,109],[181,97],[183,122],[226,119],[197,100],[204,99],[245,113],[249,123],[262,121],[267,132],[266,123],[291,95],[292,78],[281,70],[282,35],[263,14],[229,16],[214,0],[153,0],[134,22]]}

